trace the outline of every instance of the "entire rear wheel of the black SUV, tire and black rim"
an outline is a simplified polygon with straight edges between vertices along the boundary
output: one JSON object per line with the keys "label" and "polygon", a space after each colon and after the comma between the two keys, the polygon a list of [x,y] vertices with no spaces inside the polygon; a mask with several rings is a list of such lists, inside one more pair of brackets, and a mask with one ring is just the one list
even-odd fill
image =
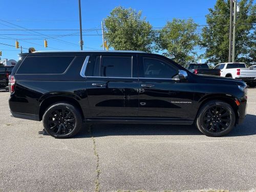
{"label": "entire rear wheel of the black SUV, tire and black rim", "polygon": [[72,104],[60,102],[46,110],[42,123],[45,131],[52,137],[69,138],[81,130],[82,116]]}

